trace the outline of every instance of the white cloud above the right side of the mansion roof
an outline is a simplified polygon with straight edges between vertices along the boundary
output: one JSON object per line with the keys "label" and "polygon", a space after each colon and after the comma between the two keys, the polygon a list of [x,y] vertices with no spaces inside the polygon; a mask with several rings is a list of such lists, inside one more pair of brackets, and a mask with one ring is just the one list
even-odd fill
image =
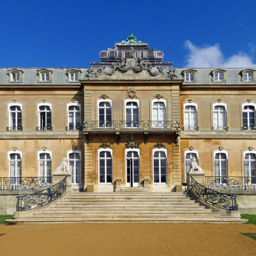
{"label": "white cloud above the right side of the mansion roof", "polygon": [[187,40],[185,47],[188,50],[186,67],[256,67],[256,63],[253,63],[252,57],[245,53],[238,53],[225,58],[219,44],[197,47]]}

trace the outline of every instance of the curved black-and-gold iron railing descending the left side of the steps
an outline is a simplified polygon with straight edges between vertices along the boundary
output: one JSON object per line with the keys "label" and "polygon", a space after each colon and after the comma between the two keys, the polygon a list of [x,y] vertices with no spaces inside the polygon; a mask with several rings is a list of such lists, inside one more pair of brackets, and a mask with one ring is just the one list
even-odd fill
{"label": "curved black-and-gold iron railing descending the left side of the steps", "polygon": [[41,190],[37,193],[17,197],[17,211],[32,210],[42,205],[49,204],[52,201],[60,197],[66,190],[66,179],[65,177],[59,183],[51,186],[45,190]]}

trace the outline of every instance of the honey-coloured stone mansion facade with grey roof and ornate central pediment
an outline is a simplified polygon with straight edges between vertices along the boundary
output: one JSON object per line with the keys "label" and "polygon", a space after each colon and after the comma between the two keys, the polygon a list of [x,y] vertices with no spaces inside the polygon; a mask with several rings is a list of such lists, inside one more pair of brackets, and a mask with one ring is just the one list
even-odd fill
{"label": "honey-coloured stone mansion facade with grey roof and ornate central pediment", "polygon": [[0,68],[0,177],[175,191],[206,176],[256,183],[256,80],[248,68],[174,68],[131,35],[90,68]]}

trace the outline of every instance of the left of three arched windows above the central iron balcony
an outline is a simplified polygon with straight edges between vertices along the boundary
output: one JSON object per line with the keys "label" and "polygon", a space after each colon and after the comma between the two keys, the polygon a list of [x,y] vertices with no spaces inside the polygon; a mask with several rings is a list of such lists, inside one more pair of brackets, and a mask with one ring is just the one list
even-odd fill
{"label": "left of three arched windows above the central iron balcony", "polygon": [[112,100],[98,100],[99,127],[112,126]]}

